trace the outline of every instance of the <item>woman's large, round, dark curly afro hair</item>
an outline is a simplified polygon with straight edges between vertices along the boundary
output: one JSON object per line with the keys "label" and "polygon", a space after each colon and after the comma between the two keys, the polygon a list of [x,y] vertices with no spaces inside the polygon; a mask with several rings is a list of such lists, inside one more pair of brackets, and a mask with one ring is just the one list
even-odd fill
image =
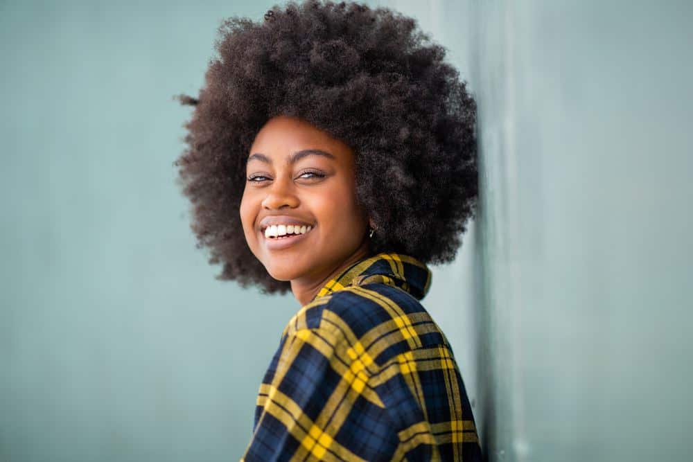
{"label": "woman's large, round, dark curly afro hair", "polygon": [[205,85],[174,162],[197,247],[220,280],[286,292],[240,229],[245,160],[278,115],[302,118],[356,153],[357,199],[376,226],[371,251],[423,263],[455,258],[477,204],[476,104],[416,20],[387,8],[308,0],[263,21],[222,22]]}

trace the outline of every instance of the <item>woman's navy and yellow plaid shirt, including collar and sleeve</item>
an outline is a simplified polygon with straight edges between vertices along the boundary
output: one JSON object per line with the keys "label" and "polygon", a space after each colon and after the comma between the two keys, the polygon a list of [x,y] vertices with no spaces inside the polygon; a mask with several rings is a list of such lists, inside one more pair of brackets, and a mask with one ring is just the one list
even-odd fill
{"label": "woman's navy and yellow plaid shirt, including collar and sleeve", "polygon": [[419,303],[426,265],[378,254],[289,321],[242,461],[480,461],[453,350]]}

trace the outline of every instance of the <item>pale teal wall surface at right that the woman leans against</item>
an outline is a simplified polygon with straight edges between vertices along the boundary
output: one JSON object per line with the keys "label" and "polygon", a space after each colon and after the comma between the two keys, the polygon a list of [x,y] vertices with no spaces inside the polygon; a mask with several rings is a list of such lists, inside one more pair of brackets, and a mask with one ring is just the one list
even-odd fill
{"label": "pale teal wall surface at right that the woman leans against", "polygon": [[480,106],[458,341],[490,458],[690,460],[692,4],[383,4],[433,25]]}

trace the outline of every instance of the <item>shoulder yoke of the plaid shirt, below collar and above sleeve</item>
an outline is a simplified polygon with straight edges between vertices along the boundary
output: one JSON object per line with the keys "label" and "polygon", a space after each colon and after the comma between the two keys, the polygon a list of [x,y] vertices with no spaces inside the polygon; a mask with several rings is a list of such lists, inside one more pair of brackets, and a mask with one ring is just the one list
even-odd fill
{"label": "shoulder yoke of the plaid shirt, below collar and above sleeve", "polygon": [[334,346],[367,353],[378,366],[407,351],[448,345],[418,300],[384,283],[350,286],[315,299],[289,321],[284,335],[306,335],[306,330]]}

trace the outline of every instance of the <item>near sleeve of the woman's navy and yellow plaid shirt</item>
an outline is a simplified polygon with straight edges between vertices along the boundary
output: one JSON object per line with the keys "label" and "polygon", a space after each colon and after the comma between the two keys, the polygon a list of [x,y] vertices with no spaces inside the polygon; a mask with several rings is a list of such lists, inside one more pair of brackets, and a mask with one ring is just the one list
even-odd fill
{"label": "near sleeve of the woman's navy and yellow plaid shirt", "polygon": [[290,332],[258,393],[242,461],[390,460],[399,445],[358,344],[321,329]]}

